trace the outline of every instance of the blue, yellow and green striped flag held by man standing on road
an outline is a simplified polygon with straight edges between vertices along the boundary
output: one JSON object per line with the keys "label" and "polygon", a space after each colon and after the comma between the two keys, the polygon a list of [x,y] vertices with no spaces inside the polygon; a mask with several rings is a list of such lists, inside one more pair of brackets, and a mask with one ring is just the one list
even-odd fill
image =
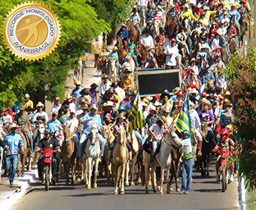
{"label": "blue, yellow and green striped flag held by man standing on road", "polygon": [[186,98],[184,100],[184,105],[181,109],[181,113],[178,115],[177,121],[175,121],[175,125],[177,127],[177,130],[179,133],[181,133],[184,130],[187,130],[190,132],[190,104],[189,104],[189,97],[188,94],[186,95]]}

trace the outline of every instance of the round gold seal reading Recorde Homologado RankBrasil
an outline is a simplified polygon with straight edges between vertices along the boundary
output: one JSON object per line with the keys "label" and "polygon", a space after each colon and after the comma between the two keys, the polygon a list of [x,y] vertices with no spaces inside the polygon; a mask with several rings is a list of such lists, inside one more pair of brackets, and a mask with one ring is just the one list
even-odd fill
{"label": "round gold seal reading Recorde Homologado RankBrasil", "polygon": [[56,13],[38,2],[24,2],[8,13],[2,34],[15,55],[28,60],[44,58],[53,52],[61,34]]}

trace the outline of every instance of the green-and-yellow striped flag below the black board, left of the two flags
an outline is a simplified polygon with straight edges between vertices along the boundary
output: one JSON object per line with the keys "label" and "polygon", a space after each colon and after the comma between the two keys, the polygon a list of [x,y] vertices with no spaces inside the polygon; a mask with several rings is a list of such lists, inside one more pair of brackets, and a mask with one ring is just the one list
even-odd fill
{"label": "green-and-yellow striped flag below the black board, left of the two flags", "polygon": [[131,121],[129,125],[129,133],[135,130],[136,128],[145,127],[145,118],[139,92],[137,93],[136,98],[133,102],[133,107],[129,116],[133,119],[133,121]]}

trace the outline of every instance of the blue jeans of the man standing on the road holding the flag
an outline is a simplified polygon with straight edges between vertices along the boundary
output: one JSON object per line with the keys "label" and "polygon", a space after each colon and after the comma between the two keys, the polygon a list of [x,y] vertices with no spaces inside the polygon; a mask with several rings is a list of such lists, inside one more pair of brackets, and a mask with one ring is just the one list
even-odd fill
{"label": "blue jeans of the man standing on the road holding the flag", "polygon": [[[192,170],[194,165],[194,159],[191,157],[188,160],[183,160],[182,163],[182,181],[181,181],[181,190],[182,191],[190,191],[190,185],[192,182]],[[187,185],[186,185],[187,182]]]}

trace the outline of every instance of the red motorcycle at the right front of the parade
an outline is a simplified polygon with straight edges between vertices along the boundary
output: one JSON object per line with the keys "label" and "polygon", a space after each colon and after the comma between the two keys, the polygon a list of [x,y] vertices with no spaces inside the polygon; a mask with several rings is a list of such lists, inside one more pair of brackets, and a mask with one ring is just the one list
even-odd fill
{"label": "red motorcycle at the right front of the parade", "polygon": [[227,148],[222,148],[220,151],[220,181],[222,184],[222,192],[227,190],[227,184],[230,184],[230,151]]}

